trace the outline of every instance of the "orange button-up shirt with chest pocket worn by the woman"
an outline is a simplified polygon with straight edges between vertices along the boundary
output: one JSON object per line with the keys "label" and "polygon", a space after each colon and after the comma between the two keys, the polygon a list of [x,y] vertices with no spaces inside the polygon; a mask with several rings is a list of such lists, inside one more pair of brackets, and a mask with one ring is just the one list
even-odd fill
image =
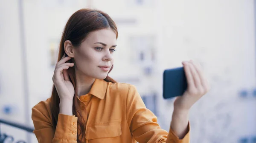
{"label": "orange button-up shirt with chest pocket worn by the woman", "polygon": [[[172,129],[160,129],[134,85],[96,79],[90,92],[77,100],[86,121],[84,143],[189,143],[189,132],[179,139]],[[77,117],[59,114],[53,129],[49,102],[32,108],[38,142],[77,143]]]}

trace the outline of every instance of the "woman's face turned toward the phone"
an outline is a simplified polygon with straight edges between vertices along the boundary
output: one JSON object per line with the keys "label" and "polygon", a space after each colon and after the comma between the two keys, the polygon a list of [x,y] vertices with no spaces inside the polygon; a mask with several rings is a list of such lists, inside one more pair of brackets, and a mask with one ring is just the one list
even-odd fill
{"label": "woman's face turned toward the phone", "polygon": [[112,29],[91,32],[79,48],[73,49],[77,72],[95,79],[105,79],[114,62],[115,48],[116,34]]}

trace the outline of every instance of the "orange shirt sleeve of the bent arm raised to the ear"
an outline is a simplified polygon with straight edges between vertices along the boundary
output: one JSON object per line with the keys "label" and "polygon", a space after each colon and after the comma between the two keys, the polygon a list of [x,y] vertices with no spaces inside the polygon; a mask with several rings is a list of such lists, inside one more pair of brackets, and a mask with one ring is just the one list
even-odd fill
{"label": "orange shirt sleeve of the bent arm raised to the ear", "polygon": [[77,143],[77,117],[58,114],[56,130],[46,109],[32,108],[32,121],[38,143]]}

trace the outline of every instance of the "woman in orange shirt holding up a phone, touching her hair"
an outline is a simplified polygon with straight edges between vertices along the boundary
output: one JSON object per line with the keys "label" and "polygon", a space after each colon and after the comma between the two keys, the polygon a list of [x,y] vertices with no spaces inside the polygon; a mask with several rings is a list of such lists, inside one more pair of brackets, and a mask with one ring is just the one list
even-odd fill
{"label": "woman in orange shirt holding up a phone, touching her hair", "polygon": [[102,11],[81,9],[70,17],[52,96],[32,108],[39,143],[189,143],[189,109],[209,90],[199,64],[183,62],[188,90],[176,98],[166,132],[133,85],[108,77],[117,36],[115,23]]}

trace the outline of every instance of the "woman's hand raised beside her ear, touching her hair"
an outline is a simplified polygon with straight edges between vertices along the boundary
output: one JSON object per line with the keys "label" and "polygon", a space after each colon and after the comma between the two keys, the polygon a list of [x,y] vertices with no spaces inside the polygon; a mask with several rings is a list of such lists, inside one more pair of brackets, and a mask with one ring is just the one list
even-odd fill
{"label": "woman's hand raised beside her ear, touching her hair", "polygon": [[[67,62],[71,58],[69,56],[62,56],[61,60],[57,62],[52,76],[53,84],[58,92],[60,100],[73,101],[75,95],[75,89],[72,82],[69,79],[67,69],[73,67],[74,63]],[[66,63],[67,62],[67,63]]]}

